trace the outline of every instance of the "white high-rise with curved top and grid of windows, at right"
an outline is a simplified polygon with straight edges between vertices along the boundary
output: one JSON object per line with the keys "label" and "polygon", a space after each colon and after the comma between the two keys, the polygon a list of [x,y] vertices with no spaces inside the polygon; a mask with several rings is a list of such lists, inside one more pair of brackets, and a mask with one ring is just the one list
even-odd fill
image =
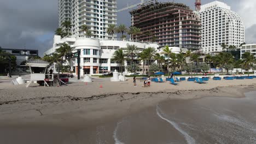
{"label": "white high-rise with curved top and grid of windows, at right", "polygon": [[222,44],[239,47],[245,42],[245,26],[230,6],[214,1],[201,6],[202,49],[205,53],[221,52]]}

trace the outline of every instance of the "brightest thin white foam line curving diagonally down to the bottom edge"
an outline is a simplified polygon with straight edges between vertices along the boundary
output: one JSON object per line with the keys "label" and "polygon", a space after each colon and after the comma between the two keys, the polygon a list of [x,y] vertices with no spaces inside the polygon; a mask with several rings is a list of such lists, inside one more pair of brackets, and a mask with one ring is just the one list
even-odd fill
{"label": "brightest thin white foam line curving diagonally down to the bottom edge", "polygon": [[188,144],[194,144],[195,140],[193,139],[193,137],[189,136],[188,133],[186,133],[184,130],[182,130],[181,128],[179,128],[179,125],[170,121],[169,119],[165,118],[163,115],[163,113],[161,112],[160,107],[157,105],[156,106],[156,113],[158,114],[158,116],[162,119],[164,119],[166,122],[170,123],[175,129],[177,129],[180,133],[182,133],[185,137],[185,140],[187,141]]}

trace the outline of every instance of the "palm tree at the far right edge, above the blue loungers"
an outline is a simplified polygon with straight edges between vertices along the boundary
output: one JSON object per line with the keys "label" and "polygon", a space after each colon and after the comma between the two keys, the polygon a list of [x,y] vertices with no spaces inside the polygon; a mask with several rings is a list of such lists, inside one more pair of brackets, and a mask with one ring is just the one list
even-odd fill
{"label": "palm tree at the far right edge, above the blue loungers", "polygon": [[253,68],[253,65],[255,63],[256,63],[256,60],[251,53],[249,52],[243,53],[242,64],[243,64],[243,68],[247,70],[248,76],[249,76],[249,69]]}

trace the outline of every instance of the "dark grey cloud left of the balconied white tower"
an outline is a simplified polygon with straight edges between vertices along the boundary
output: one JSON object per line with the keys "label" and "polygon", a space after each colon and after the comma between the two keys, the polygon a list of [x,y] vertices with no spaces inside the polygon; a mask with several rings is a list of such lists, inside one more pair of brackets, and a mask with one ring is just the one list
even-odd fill
{"label": "dark grey cloud left of the balconied white tower", "polygon": [[[57,27],[57,1],[9,0],[0,4],[0,46],[38,49],[42,55],[52,44],[44,38]],[[39,40],[41,37],[48,40]]]}

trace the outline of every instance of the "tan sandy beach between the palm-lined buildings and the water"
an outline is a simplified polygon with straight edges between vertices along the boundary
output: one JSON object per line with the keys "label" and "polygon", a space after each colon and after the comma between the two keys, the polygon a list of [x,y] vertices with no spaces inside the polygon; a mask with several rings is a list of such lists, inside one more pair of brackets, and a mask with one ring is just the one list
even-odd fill
{"label": "tan sandy beach between the palm-lined buildings and the water", "polygon": [[[18,140],[21,143],[78,143],[69,140],[78,140],[75,137],[83,137],[79,136],[83,131],[83,135],[89,136],[90,139],[88,137],[79,138],[81,141],[118,143],[118,138],[115,139],[113,135],[118,133],[118,124],[124,123],[120,121],[124,117],[139,118],[141,116],[138,113],[142,112],[147,113],[143,118],[148,117],[148,121],[152,121],[152,123],[164,122],[159,118],[151,117],[161,113],[159,110],[155,111],[155,106],[159,103],[205,97],[243,98],[245,92],[256,91],[255,79],[210,80],[207,84],[185,81],[180,82],[179,86],[170,85],[169,82],[152,82],[151,87],[147,88],[141,87],[142,83],[137,80],[137,87],[133,87],[131,80],[125,82],[77,82],[61,87],[42,87],[33,83],[28,88],[25,85],[14,86],[0,83],[0,137],[4,138],[3,140],[7,143],[13,134],[18,139],[9,141],[9,143],[15,143]],[[102,88],[100,88],[101,85]],[[149,117],[148,113],[152,113],[152,115]],[[129,122],[132,121],[141,125],[137,131],[147,128],[146,125],[143,125],[144,123],[139,123],[134,119]],[[168,123],[159,124],[152,130],[165,128],[167,125]],[[126,123],[126,126],[120,127],[129,127],[129,125]],[[104,130],[113,131],[113,133],[97,135],[97,131]],[[95,131],[95,133],[92,134],[89,131]],[[170,127],[168,131],[171,131],[172,140],[178,143],[189,143],[188,138],[184,139],[184,134],[176,127]],[[29,140],[25,139],[27,136],[30,137]],[[159,142],[162,136],[164,135],[159,135],[159,139],[155,139],[154,142]],[[64,137],[68,140],[64,140]],[[95,137],[104,137],[105,142],[95,142]],[[116,137],[122,136],[117,134]],[[147,136],[144,135],[141,139],[126,143],[154,143],[153,141],[139,141],[146,139],[145,137]],[[38,139],[42,141],[38,142]]]}

